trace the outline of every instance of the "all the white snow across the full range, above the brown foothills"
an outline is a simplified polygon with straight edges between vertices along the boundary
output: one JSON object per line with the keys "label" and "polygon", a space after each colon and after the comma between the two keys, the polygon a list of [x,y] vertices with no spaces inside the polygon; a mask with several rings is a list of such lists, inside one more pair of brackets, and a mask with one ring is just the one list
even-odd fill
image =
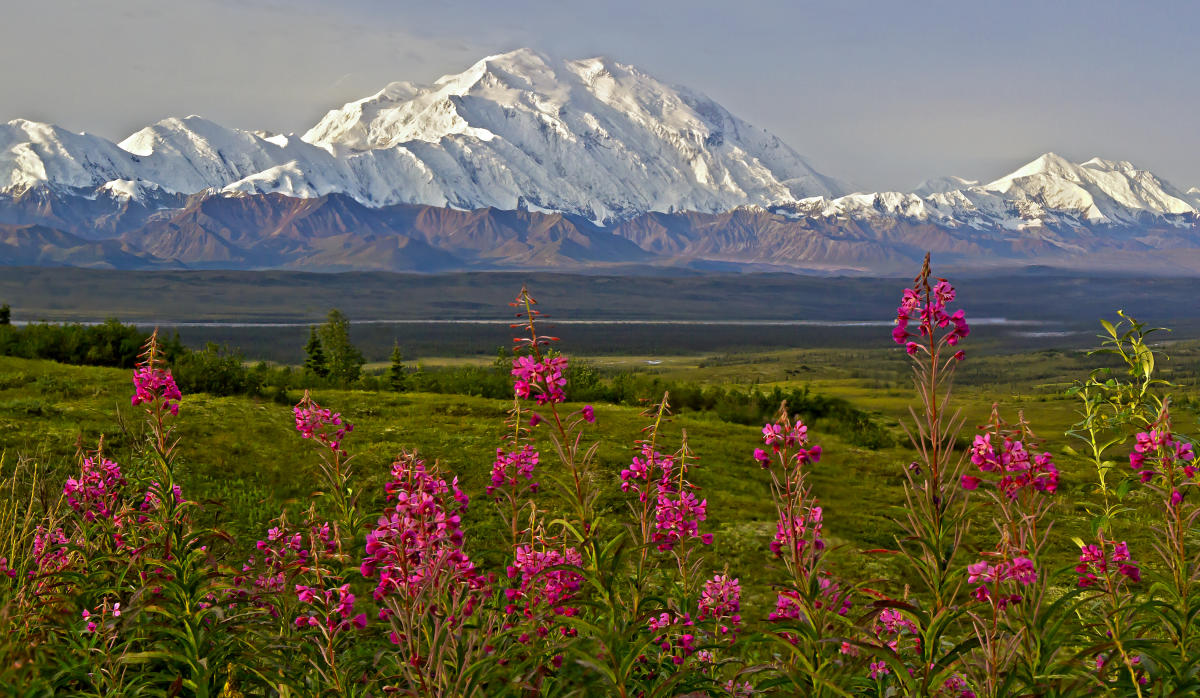
{"label": "all the white snow across the full range, above the brown foothills", "polygon": [[24,120],[0,126],[0,194],[36,187],[148,210],[216,191],[524,209],[599,223],[760,207],[1001,231],[1184,227],[1200,210],[1200,188],[1181,192],[1128,162],[1054,154],[984,185],[947,176],[910,193],[845,194],[778,138],[697,92],[608,59],[557,61],[529,49],[431,85],[392,83],[329,112],[302,137],[199,116],[166,119],[120,144]]}

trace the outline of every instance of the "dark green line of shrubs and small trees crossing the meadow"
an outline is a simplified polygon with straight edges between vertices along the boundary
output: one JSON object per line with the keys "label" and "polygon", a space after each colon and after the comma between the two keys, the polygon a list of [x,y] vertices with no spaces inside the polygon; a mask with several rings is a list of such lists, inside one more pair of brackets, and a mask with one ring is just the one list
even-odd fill
{"label": "dark green line of shrubs and small trees crossing the meadow", "polygon": [[[11,311],[0,306],[0,355],[49,359],[61,363],[132,368],[149,335],[115,319],[98,325],[35,323],[17,327]],[[350,321],[334,308],[325,323],[312,325],[304,345],[300,367],[251,363],[238,349],[214,343],[188,349],[178,332],[163,338],[163,355],[184,392],[217,396],[248,395],[281,404],[299,399],[296,391],[318,387],[376,391],[414,391],[468,395],[493,399],[512,397],[512,350],[499,348],[488,365],[427,368],[404,361],[394,344],[390,365],[365,373],[362,353],[350,341]],[[708,413],[739,425],[769,421],[781,401],[810,423],[821,423],[850,443],[880,449],[894,445],[889,429],[850,402],[814,393],[806,386],[769,390],[758,386],[706,385],[666,380],[634,371],[601,374],[587,361],[574,359],[566,372],[569,395],[580,402],[602,402],[637,407],[647,399],[671,393],[671,404],[680,413]]]}

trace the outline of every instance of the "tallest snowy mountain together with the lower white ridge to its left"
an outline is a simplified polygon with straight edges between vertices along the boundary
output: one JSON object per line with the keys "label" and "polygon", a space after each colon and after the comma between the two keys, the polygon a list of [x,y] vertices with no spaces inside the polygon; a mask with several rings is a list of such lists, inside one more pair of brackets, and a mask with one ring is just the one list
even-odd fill
{"label": "tallest snowy mountain together with the lower white ridge to its left", "polygon": [[528,49],[427,86],[392,83],[300,138],[199,116],[163,120],[120,144],[10,122],[0,130],[0,189],[38,185],[128,197],[144,186],[343,193],[373,206],[526,207],[596,222],[842,193],[781,140],[697,92],[607,59],[553,61]]}

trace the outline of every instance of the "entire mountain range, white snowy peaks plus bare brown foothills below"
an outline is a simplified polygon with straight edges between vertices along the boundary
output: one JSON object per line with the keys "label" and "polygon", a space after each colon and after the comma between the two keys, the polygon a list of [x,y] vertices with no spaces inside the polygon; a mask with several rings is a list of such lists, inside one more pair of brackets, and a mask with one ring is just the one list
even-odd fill
{"label": "entire mountain range, white snowy peaks plus bare brown foothills below", "polygon": [[988,183],[852,192],[697,92],[528,49],[392,83],[302,137],[0,126],[0,265],[872,272],[926,249],[1189,273],[1200,188],[1046,154]]}

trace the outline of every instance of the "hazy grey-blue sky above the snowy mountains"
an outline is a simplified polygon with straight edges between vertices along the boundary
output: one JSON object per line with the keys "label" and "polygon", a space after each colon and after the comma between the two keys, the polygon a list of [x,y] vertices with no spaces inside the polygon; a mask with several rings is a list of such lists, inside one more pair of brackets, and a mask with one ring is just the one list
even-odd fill
{"label": "hazy grey-blue sky above the snowy mountains", "polygon": [[392,80],[532,47],[688,85],[828,174],[911,188],[1054,150],[1200,186],[1200,2],[2,0],[0,121],[304,132]]}

